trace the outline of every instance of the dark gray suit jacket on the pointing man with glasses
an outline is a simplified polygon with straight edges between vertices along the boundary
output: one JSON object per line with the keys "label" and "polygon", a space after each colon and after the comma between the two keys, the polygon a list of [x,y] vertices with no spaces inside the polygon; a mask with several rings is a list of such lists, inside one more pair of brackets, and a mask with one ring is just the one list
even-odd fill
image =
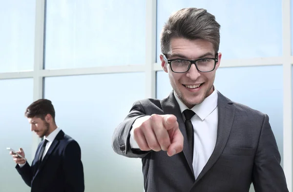
{"label": "dark gray suit jacket on the pointing man with glasses", "polygon": [[[173,114],[184,136],[183,152],[132,150],[129,132],[144,115]],[[146,192],[288,192],[280,154],[268,115],[232,102],[218,92],[218,132],[215,149],[195,180],[185,124],[173,92],[165,99],[134,103],[115,129],[112,147],[117,154],[142,158]]]}

